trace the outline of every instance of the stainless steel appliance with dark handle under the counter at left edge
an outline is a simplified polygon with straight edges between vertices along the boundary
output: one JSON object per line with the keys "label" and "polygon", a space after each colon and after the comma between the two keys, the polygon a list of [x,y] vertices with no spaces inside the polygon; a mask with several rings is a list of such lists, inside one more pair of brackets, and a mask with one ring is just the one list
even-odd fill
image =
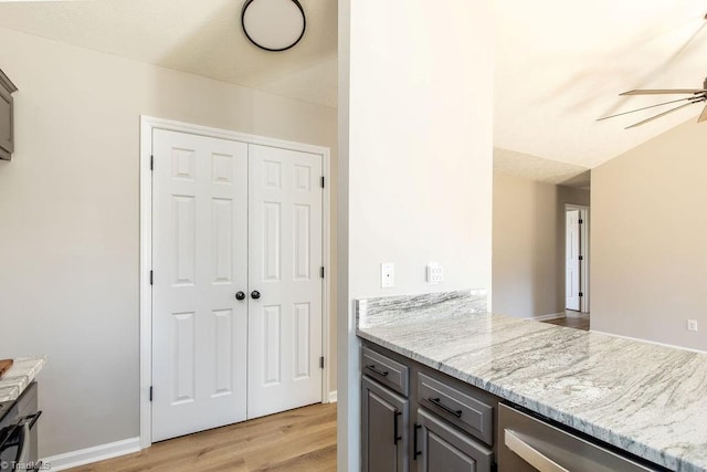
{"label": "stainless steel appliance with dark handle under the counter at left edge", "polygon": [[17,401],[0,403],[0,471],[39,471],[36,431],[42,415],[32,382]]}

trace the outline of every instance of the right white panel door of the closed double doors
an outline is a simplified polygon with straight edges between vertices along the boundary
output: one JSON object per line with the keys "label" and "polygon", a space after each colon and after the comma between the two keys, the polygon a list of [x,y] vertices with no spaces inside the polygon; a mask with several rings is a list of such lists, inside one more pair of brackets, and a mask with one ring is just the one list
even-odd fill
{"label": "right white panel door of the closed double doors", "polygon": [[249,174],[247,416],[256,418],[321,401],[321,156],[249,145]]}

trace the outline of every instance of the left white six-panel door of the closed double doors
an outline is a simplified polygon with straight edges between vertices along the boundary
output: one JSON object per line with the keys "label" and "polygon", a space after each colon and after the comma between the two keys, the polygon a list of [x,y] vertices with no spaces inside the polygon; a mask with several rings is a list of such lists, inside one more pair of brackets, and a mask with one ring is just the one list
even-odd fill
{"label": "left white six-panel door of the closed double doors", "polygon": [[152,441],[246,418],[247,145],[155,130]]}

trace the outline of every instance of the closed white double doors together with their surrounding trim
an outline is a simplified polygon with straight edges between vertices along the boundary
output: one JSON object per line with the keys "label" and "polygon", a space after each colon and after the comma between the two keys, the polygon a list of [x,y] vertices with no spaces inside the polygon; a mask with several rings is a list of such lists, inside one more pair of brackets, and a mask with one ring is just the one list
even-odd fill
{"label": "closed white double doors together with their surrounding trim", "polygon": [[328,150],[143,133],[141,447],[326,401]]}

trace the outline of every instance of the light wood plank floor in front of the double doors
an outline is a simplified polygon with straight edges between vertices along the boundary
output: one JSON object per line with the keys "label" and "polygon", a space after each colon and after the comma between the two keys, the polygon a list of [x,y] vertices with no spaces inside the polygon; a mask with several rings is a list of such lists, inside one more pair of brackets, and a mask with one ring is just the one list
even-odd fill
{"label": "light wood plank floor in front of the double doors", "polygon": [[137,471],[335,471],[336,403],[313,405],[152,444],[71,469]]}

